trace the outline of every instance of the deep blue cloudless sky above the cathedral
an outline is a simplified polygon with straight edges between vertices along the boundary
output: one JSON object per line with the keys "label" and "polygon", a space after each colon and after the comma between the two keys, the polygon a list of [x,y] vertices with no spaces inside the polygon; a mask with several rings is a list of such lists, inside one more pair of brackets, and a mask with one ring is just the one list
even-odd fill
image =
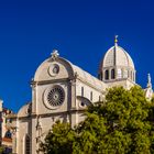
{"label": "deep blue cloudless sky above the cathedral", "polygon": [[97,76],[113,37],[133,58],[136,81],[154,81],[152,0],[0,1],[0,98],[18,111],[31,100],[30,80],[53,48]]}

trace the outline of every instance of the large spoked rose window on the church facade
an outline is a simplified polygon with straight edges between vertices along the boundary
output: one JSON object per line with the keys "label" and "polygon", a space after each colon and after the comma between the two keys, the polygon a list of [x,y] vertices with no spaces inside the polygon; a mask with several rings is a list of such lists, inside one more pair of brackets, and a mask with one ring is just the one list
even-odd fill
{"label": "large spoked rose window on the church facade", "polygon": [[52,109],[58,108],[65,99],[65,92],[61,86],[54,86],[47,89],[44,95],[45,105]]}

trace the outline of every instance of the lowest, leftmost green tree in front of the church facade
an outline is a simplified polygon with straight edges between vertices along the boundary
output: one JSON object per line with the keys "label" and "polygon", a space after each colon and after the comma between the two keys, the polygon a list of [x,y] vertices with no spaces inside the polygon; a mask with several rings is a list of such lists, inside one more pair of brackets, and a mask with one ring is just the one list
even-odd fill
{"label": "lowest, leftmost green tree in front of the church facade", "polygon": [[41,151],[44,154],[70,154],[75,132],[69,123],[61,123],[57,121],[45,138],[45,142],[41,143]]}

